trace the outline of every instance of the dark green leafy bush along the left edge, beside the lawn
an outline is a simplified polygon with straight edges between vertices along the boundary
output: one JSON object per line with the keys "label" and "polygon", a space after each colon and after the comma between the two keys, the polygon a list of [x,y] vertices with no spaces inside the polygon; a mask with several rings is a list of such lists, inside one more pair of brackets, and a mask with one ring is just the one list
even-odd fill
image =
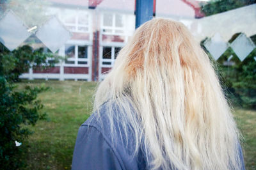
{"label": "dark green leafy bush along the left edge, beside the lawn", "polygon": [[26,125],[35,125],[36,121],[45,118],[45,114],[38,112],[43,105],[36,97],[48,88],[26,86],[18,89],[15,82],[20,81],[19,75],[31,65],[51,66],[46,62],[49,57],[52,58],[52,54],[42,49],[23,46],[10,52],[0,44],[0,169],[25,166],[20,156],[26,148],[16,143],[23,143],[31,134]]}

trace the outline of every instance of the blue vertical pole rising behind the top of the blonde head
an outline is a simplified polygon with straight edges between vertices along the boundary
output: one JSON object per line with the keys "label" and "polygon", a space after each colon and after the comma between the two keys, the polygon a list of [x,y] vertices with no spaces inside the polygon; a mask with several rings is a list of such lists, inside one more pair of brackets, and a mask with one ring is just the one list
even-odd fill
{"label": "blue vertical pole rising behind the top of the blonde head", "polygon": [[136,0],[136,28],[153,18],[153,3],[154,0]]}

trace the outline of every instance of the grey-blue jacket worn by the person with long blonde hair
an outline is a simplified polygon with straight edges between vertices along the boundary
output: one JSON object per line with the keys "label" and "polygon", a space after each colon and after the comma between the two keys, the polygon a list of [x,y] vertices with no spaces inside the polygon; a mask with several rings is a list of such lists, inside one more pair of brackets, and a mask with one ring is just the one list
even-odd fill
{"label": "grey-blue jacket worn by the person with long blonde hair", "polygon": [[[115,140],[111,140],[109,122],[104,117],[106,109],[104,105],[100,109],[102,123],[92,114],[79,128],[76,146],[74,149],[72,169],[149,169],[146,163],[145,151],[141,149],[137,155],[132,155],[134,149],[134,137],[128,134],[127,140],[121,133],[116,133]],[[116,114],[118,111],[116,110]],[[114,125],[120,130],[118,121]],[[115,141],[115,142],[112,142]],[[143,147],[141,147],[143,148]],[[240,158],[243,163],[243,153],[239,146]]]}

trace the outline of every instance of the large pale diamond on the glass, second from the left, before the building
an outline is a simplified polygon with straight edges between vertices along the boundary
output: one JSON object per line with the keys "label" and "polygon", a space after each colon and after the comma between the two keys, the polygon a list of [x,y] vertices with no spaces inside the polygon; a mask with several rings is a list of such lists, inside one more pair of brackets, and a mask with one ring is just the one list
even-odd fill
{"label": "large pale diamond on the glass, second from the left, before the building", "polygon": [[40,27],[36,32],[36,36],[52,52],[56,52],[71,38],[70,32],[67,31],[56,17],[48,20],[44,26]]}

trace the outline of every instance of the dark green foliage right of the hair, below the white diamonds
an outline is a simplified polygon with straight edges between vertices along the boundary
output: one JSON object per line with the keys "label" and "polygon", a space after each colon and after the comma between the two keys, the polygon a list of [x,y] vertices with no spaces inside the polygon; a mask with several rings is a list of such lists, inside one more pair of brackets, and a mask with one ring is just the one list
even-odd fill
{"label": "dark green foliage right of the hair, below the white diamonds", "polygon": [[[229,42],[236,39],[237,33]],[[254,36],[253,36],[254,37]],[[207,38],[205,39],[207,40]],[[203,40],[201,46],[211,58],[211,54],[205,49]],[[234,65],[225,66],[223,63],[230,59]],[[219,79],[223,85],[223,89],[234,105],[240,105],[246,108],[256,109],[256,49],[254,49],[243,62],[239,60],[236,53],[229,47],[218,59],[212,63],[216,65],[216,72],[218,72]]]}

